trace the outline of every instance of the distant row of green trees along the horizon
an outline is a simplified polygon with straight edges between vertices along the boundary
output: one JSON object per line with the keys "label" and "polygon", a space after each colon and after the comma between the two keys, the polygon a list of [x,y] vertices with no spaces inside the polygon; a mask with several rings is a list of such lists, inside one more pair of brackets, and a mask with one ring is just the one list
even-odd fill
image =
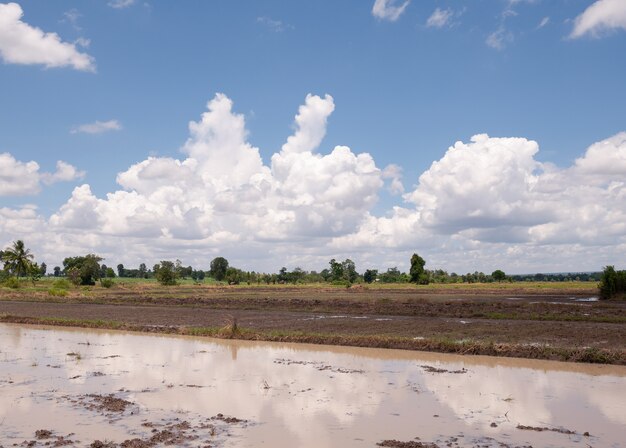
{"label": "distant row of green trees along the horizon", "polygon": [[[443,269],[425,269],[426,261],[417,253],[410,259],[408,272],[402,272],[397,267],[388,268],[385,271],[378,269],[365,269],[362,273],[357,271],[354,261],[331,259],[328,267],[321,271],[306,271],[300,267],[289,271],[282,267],[277,273],[264,273],[245,271],[231,266],[224,257],[215,257],[208,270],[194,269],[185,266],[180,260],[163,260],[148,268],[141,263],[137,268],[126,268],[118,264],[115,269],[101,263],[104,259],[96,254],[66,257],[63,266],[55,266],[52,273],[54,277],[63,277],[75,285],[95,285],[100,282],[103,286],[113,285],[112,279],[120,278],[154,278],[163,285],[175,285],[180,280],[192,279],[195,282],[203,282],[212,279],[217,282],[228,284],[303,284],[303,283],[330,283],[333,285],[350,286],[354,283],[490,283],[503,281],[600,281],[601,296],[613,297],[626,290],[626,271],[615,271],[612,266],[607,266],[603,272],[577,273],[577,274],[532,274],[507,276],[500,269],[491,274],[475,271],[473,273],[457,274],[448,273]],[[36,282],[41,276],[46,275],[45,263],[38,264],[30,249],[26,248],[22,240],[0,251],[0,263],[4,264],[0,271],[0,281],[15,285],[20,277],[28,277]]]}

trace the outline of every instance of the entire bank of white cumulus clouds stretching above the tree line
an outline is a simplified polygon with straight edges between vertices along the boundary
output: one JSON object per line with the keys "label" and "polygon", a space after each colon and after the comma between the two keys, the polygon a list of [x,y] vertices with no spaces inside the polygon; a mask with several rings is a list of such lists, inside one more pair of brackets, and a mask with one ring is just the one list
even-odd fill
{"label": "entire bank of white cumulus clouds stretching above the tree line", "polygon": [[[591,144],[567,167],[540,162],[535,141],[478,134],[449,147],[405,191],[402,167],[381,170],[370,154],[323,148],[334,108],[330,95],[307,95],[292,135],[265,163],[244,116],[217,94],[189,123],[179,159],[133,164],[104,196],[80,185],[49,218],[33,207],[0,209],[0,233],[57,257],[46,262],[96,252],[115,263],[181,258],[206,268],[222,254],[255,270],[318,269],[333,257],[402,269],[419,251],[428,267],[530,272],[623,260],[626,132]],[[63,162],[41,173],[36,162],[2,154],[0,194],[81,174]],[[381,212],[384,188],[403,202]]]}

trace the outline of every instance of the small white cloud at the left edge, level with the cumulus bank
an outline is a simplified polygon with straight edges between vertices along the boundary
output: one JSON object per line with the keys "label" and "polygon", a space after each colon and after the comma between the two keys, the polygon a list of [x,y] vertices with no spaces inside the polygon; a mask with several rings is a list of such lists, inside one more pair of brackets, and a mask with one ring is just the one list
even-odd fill
{"label": "small white cloud at the left edge, level with the cumulus bank", "polygon": [[30,196],[41,191],[41,183],[69,182],[84,177],[85,172],[59,160],[54,173],[39,172],[34,161],[20,162],[8,152],[0,154],[0,196]]}

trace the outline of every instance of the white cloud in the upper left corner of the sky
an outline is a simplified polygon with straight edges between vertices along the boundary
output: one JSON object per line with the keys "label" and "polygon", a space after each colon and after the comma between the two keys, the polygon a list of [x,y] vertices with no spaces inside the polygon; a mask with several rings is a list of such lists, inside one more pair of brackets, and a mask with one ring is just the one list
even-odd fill
{"label": "white cloud in the upper left corner of the sky", "polygon": [[6,63],[96,71],[91,56],[79,52],[74,44],[62,42],[56,33],[44,33],[22,22],[23,15],[17,3],[0,4],[0,56]]}

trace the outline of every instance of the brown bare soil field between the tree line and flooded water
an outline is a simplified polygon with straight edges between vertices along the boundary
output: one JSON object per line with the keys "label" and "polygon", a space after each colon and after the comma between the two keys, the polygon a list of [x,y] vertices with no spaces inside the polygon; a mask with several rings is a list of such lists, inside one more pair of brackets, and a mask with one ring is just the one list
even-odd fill
{"label": "brown bare soil field between the tree line and flooded water", "polygon": [[[626,302],[586,301],[594,293],[587,286],[532,284],[464,289],[138,284],[71,291],[61,298],[0,290],[0,321],[101,327],[115,322],[115,328],[186,334],[203,334],[191,328],[226,328],[226,334],[205,334],[626,364]],[[435,340],[439,343],[420,343]],[[459,342],[467,343],[464,349],[450,348]],[[581,350],[594,350],[594,356],[580,355]],[[605,352],[610,356],[595,356]]]}

